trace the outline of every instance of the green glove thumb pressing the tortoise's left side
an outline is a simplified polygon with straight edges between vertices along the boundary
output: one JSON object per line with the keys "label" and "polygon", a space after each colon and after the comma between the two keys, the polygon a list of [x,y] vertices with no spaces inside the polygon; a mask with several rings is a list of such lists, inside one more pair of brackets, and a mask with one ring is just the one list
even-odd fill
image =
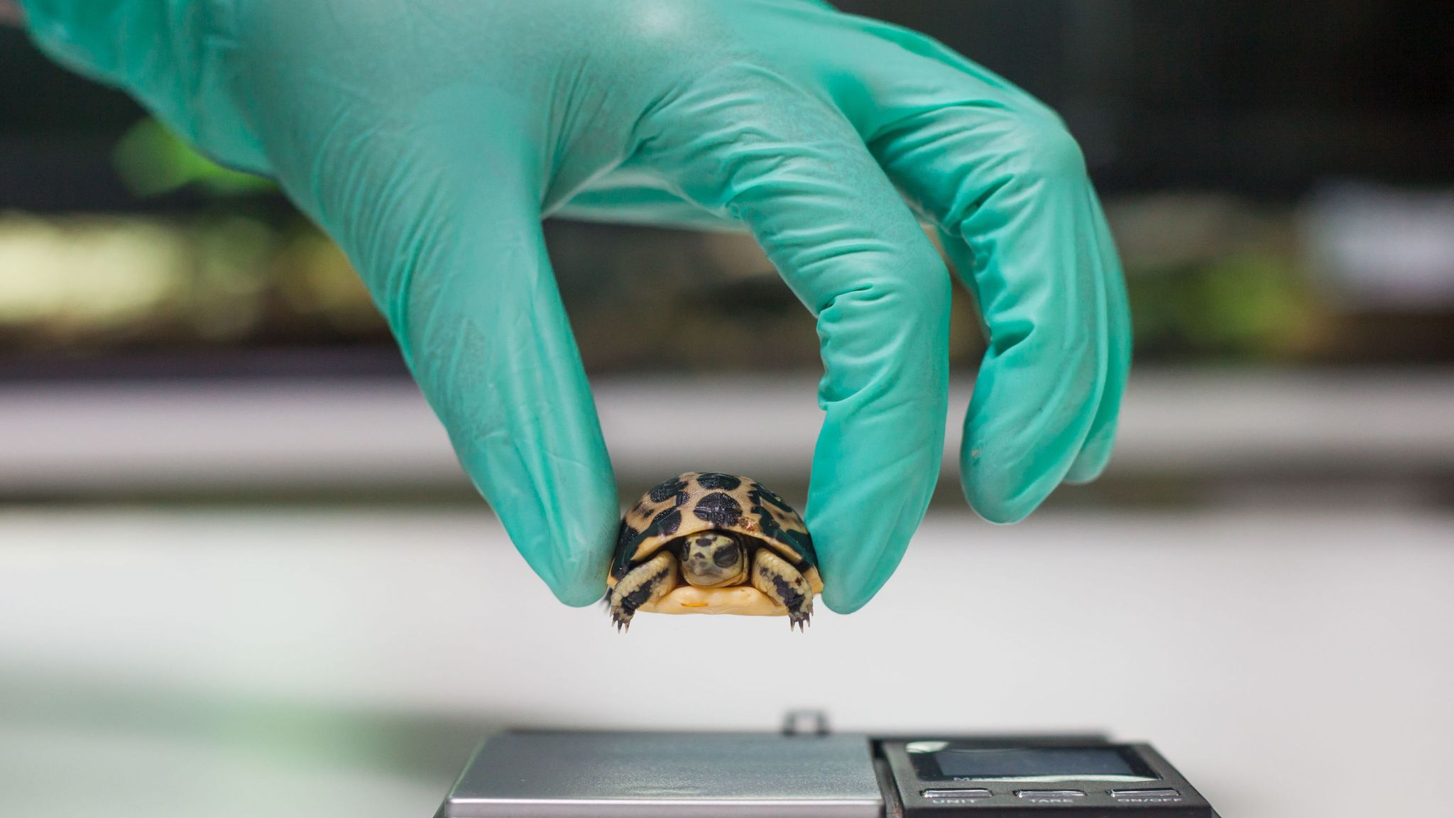
{"label": "green glove thumb pressing the tortoise's left side", "polygon": [[427,261],[406,307],[410,367],[516,549],[563,603],[586,605],[605,591],[619,507],[528,204],[445,211],[465,224],[420,246]]}

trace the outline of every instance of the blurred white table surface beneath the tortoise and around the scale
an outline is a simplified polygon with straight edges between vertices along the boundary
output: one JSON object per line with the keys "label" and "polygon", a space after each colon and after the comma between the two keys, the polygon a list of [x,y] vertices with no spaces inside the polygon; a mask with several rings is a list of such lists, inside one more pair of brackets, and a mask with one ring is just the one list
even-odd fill
{"label": "blurred white table surface beneath the tortoise and around the scale", "polygon": [[0,511],[3,815],[427,818],[487,725],[801,706],[1150,739],[1226,818],[1445,815],[1451,691],[1434,514],[935,512],[869,607],[807,635],[618,636],[484,514]]}

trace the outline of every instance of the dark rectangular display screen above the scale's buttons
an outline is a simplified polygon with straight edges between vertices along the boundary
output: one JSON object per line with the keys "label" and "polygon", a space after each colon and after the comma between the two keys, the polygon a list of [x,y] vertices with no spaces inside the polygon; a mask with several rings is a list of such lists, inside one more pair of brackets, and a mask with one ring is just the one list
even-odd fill
{"label": "dark rectangular display screen above the scale's buttons", "polygon": [[1146,763],[1118,747],[967,747],[913,741],[906,747],[926,782],[1153,782]]}

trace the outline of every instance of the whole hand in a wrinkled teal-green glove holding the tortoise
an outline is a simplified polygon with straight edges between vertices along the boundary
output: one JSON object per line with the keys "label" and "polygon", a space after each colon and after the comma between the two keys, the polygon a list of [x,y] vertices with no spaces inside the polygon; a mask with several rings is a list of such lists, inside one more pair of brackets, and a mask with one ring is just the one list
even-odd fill
{"label": "whole hand in a wrinkled teal-green glove holding the tortoise", "polygon": [[899,565],[939,473],[949,279],[900,191],[990,336],[970,504],[1015,521],[1109,457],[1128,317],[1082,156],[926,36],[808,0],[23,6],[49,54],[275,178],[339,242],[567,604],[601,597],[618,507],[544,215],[742,224],[817,316],[807,521],[836,611]]}

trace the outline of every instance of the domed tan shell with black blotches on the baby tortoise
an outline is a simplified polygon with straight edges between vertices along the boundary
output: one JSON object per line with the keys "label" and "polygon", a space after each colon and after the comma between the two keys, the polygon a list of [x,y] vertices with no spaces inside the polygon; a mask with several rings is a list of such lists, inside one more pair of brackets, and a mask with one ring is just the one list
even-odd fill
{"label": "domed tan shell with black blotches on the baby tortoise", "polygon": [[616,556],[608,585],[662,550],[699,531],[733,531],[776,552],[810,582],[817,578],[817,553],[803,517],[772,489],[752,477],[720,472],[688,472],[641,495],[621,520]]}

